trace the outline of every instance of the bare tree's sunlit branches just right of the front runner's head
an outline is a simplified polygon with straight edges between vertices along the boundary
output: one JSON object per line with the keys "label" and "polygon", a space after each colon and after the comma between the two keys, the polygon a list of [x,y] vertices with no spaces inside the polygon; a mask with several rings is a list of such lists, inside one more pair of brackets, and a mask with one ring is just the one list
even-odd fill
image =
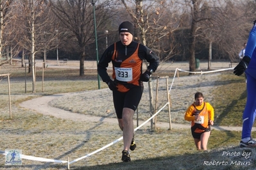
{"label": "bare tree's sunlit branches just right of the front runner's head", "polygon": [[161,61],[173,57],[176,44],[171,41],[179,27],[176,18],[179,6],[169,1],[123,1],[126,11],[135,24],[135,40],[154,50]]}

